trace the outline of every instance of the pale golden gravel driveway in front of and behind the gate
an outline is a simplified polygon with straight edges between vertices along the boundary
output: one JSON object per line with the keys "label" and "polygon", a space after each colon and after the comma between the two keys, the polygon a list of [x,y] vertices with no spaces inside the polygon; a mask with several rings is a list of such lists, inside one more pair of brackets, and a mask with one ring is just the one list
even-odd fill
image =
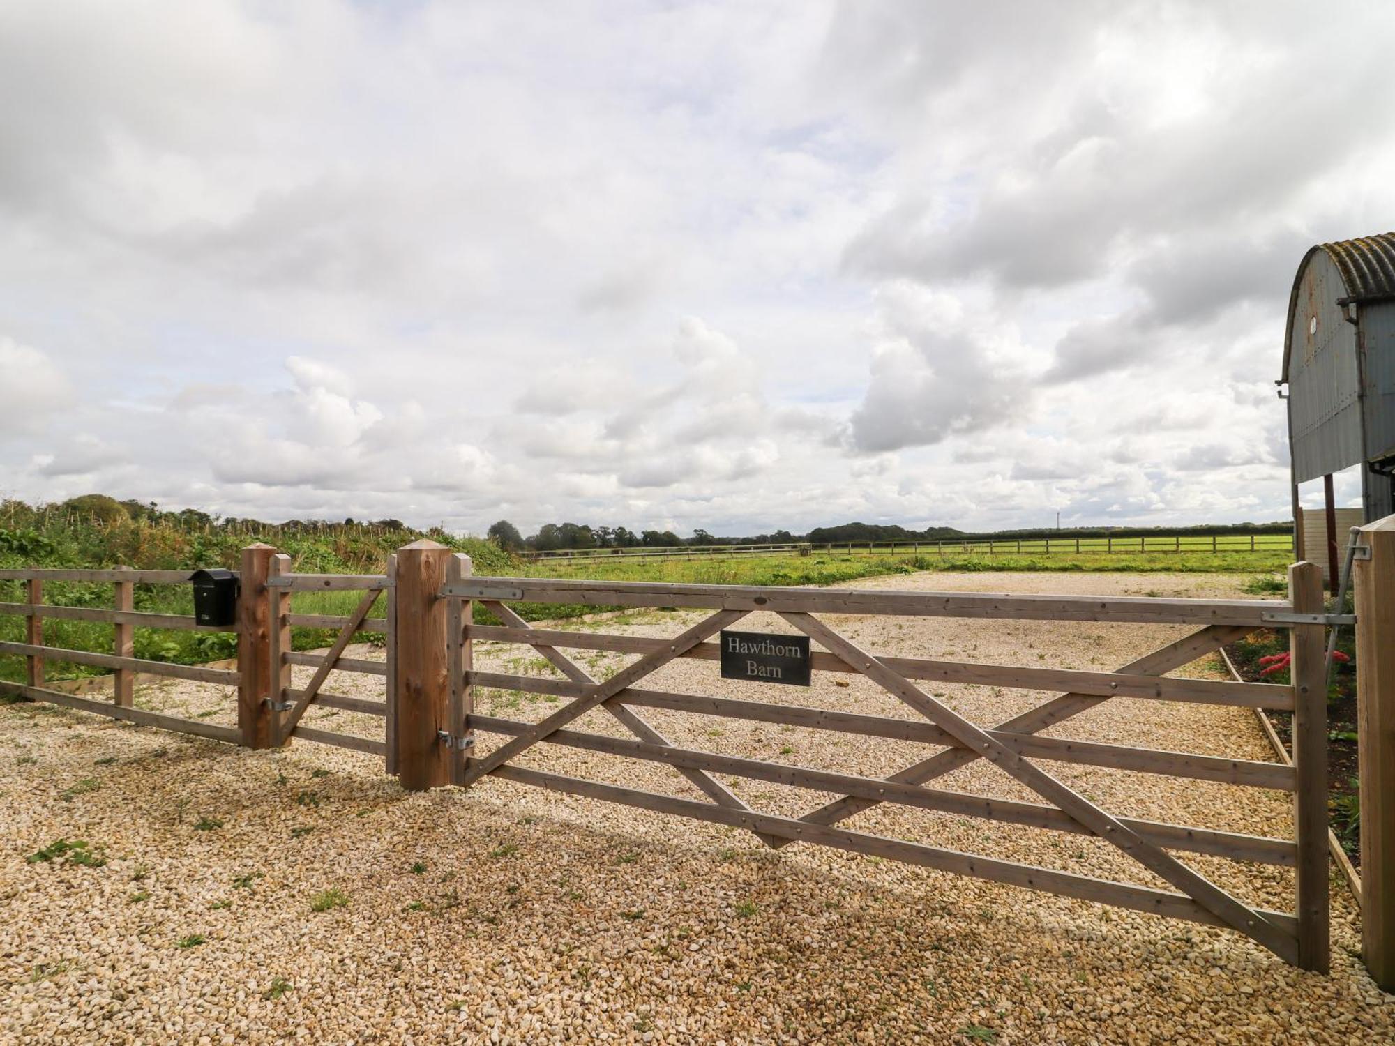
{"label": "pale golden gravel driveway in front of and behind the gate", "polygon": [[[1236,596],[1207,575],[915,575],[855,587]],[[674,635],[702,614],[611,615]],[[739,628],[788,630],[769,615]],[[883,653],[1112,669],[1189,630],[1165,625],[826,621]],[[575,622],[562,625],[576,626]],[[356,655],[371,657],[367,649]],[[593,675],[629,658],[576,651]],[[478,644],[488,671],[547,674]],[[1221,678],[1208,661],[1187,675]],[[297,685],[311,669],[297,669]],[[837,681],[848,685],[840,686]],[[915,718],[861,676],[812,689],[721,681],[682,661],[651,689]],[[992,724],[1050,693],[926,683]],[[326,689],[381,697],[382,681]],[[233,696],[172,682],[142,707],[236,721]],[[485,690],[477,710],[540,720],[547,697]],[[642,714],[674,743],[884,775],[922,745]],[[382,721],[306,722],[381,736]],[[576,729],[629,736],[604,711]],[[1246,710],[1115,699],[1053,736],[1271,759]],[[488,750],[502,739],[481,735]],[[651,763],[540,745],[526,766],[702,798]],[[52,706],[0,708],[0,1042],[1173,1042],[1395,1039],[1395,1003],[1353,958],[1334,880],[1332,975],[1236,933],[487,780],[407,795],[372,756],[297,742],[254,753]],[[1053,774],[1116,814],[1290,837],[1279,792],[1083,766]],[[827,795],[724,778],[797,814]],[[1034,801],[979,760],[944,788]],[[1046,867],[1165,886],[1081,835],[904,808],[848,827]],[[85,848],[54,847],[82,840]],[[49,859],[27,861],[40,852]],[[85,856],[95,855],[95,856]],[[1285,869],[1184,855],[1250,902],[1292,909]]]}

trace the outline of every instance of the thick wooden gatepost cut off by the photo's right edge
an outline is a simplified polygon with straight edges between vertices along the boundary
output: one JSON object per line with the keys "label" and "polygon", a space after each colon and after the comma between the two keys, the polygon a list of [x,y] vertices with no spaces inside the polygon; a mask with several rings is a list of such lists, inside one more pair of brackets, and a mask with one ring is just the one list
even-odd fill
{"label": "thick wooden gatepost cut off by the photo's right edge", "polygon": [[1362,960],[1395,992],[1395,516],[1362,527],[1356,576],[1357,775],[1362,788]]}

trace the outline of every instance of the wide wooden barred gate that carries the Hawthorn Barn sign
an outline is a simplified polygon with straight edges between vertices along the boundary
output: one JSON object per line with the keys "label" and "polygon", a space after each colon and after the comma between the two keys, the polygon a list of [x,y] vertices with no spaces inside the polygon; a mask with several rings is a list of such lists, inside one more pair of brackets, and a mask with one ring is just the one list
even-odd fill
{"label": "wide wooden barred gate that carries the Hawthorn Barn sign", "polygon": [[[444,549],[442,549],[444,554]],[[459,559],[449,568],[462,575]],[[467,563],[466,568],[467,570]],[[432,575],[431,570],[427,572]],[[706,584],[467,577],[444,580],[439,596],[446,611],[427,605],[445,632],[446,665],[441,731],[449,756],[449,780],[470,785],[485,775],[586,795],[663,813],[748,828],[770,847],[792,841],[817,842],[872,854],[1066,897],[1155,912],[1200,923],[1228,926],[1253,937],[1288,962],[1309,969],[1328,965],[1325,685],[1322,667],[1321,572],[1310,563],[1290,569],[1290,601],[1095,598],[1080,596],[990,596],[976,593],[897,593],[826,589],[778,589]],[[597,608],[703,608],[713,611],[671,639],[530,628],[508,604],[585,604]],[[473,623],[470,607],[481,604],[501,625]],[[646,676],[675,658],[718,660],[713,636],[752,612],[771,612],[784,635],[808,636],[822,650],[812,654],[816,672],[861,674],[923,717],[905,721],[877,715],[791,707],[730,697],[642,689]],[[1198,630],[1112,672],[968,664],[887,657],[859,647],[817,614],[950,616],[974,621],[1092,621],[1197,625]],[[421,622],[414,622],[413,629]],[[405,618],[399,618],[405,628]],[[1214,653],[1260,628],[1290,628],[1293,685],[1244,683],[1173,678],[1166,674]],[[474,640],[522,643],[536,650],[564,679],[473,671]],[[639,654],[608,679],[596,679],[562,653],[604,650]],[[400,671],[400,669],[399,669]],[[1056,690],[1059,696],[1004,722],[979,725],[957,714],[917,681]],[[473,686],[504,688],[565,697],[568,703],[540,722],[477,715]],[[418,695],[425,696],[428,695]],[[1200,702],[1295,713],[1296,764],[1226,759],[1183,752],[1140,749],[1059,738],[1041,731],[1113,697]],[[406,693],[403,693],[406,700]],[[933,755],[887,778],[830,773],[785,763],[724,756],[671,745],[636,708],[670,708],[869,736],[919,741],[939,746]],[[593,708],[604,708],[632,735],[622,739],[569,729]],[[405,713],[403,713],[405,714]],[[476,755],[476,734],[506,738]],[[696,785],[710,802],[586,781],[519,766],[536,745],[565,745],[668,764]],[[1027,803],[928,787],[936,778],[986,759],[1030,788],[1043,802]],[[1243,835],[1200,826],[1168,824],[1115,816],[1074,791],[1041,761],[1141,770],[1182,778],[1278,788],[1296,796],[1297,838]],[[802,817],[752,810],[714,774],[797,785],[841,798]],[[437,781],[444,784],[445,781]],[[1081,833],[1106,840],[1175,890],[1155,890],[1055,869],[978,856],[918,842],[884,838],[837,827],[876,803],[951,812],[1013,824]],[[1296,912],[1250,907],[1186,865],[1173,851],[1235,861],[1265,862],[1296,869]]]}

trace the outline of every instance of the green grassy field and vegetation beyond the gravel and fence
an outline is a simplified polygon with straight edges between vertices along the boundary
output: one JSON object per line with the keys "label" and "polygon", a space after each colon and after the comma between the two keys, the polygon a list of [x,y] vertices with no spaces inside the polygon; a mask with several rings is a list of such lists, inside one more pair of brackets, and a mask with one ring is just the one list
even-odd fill
{"label": "green grassy field and vegetation beyond the gravel and fence", "polygon": [[[1166,551],[1115,552],[1074,551],[1016,552],[1016,543],[995,543],[993,555],[985,548],[944,547],[933,552],[914,554],[897,551],[868,555],[865,549],[815,552],[812,555],[745,555],[698,559],[628,559],[625,556],[597,556],[583,561],[523,562],[498,547],[477,538],[455,538],[439,531],[389,530],[381,527],[329,527],[321,531],[286,529],[266,534],[232,534],[201,530],[177,523],[127,523],[95,526],[66,519],[45,524],[29,519],[29,526],[0,529],[0,568],[103,568],[124,563],[138,569],[190,569],[197,566],[237,566],[239,549],[261,537],[292,556],[296,570],[311,573],[379,573],[386,556],[418,537],[432,537],[456,551],[467,552],[474,561],[476,575],[578,577],[594,580],[631,582],[689,582],[704,584],[833,584],[859,577],[907,575],[919,570],[954,572],[1126,572],[1126,573],[1230,573],[1247,575],[1256,591],[1269,590],[1289,563],[1289,541],[1282,537],[1269,548],[1250,552],[1249,540],[1235,551],[1211,551],[1209,538],[1183,540],[1182,551],[1173,551],[1172,540]],[[1137,541],[1137,538],[1133,538]],[[1232,538],[1233,541],[1233,538]],[[1084,541],[1084,545],[1091,544]],[[1102,544],[1102,543],[1101,543]],[[1116,543],[1117,544],[1117,543]],[[1013,551],[1006,551],[1013,547]],[[1261,580],[1262,579],[1262,580]],[[997,587],[997,586],[995,586]],[[1003,589],[1011,582],[1004,579]],[[46,586],[45,598],[50,604],[71,607],[112,607],[110,584],[60,583]],[[294,597],[300,614],[350,614],[360,593],[307,593]],[[0,582],[0,601],[24,602],[21,582]],[[193,596],[187,586],[135,586],[135,609],[155,614],[193,614]],[[516,609],[530,621],[566,618],[594,612],[594,607],[557,607],[522,604]],[[374,615],[384,612],[382,600]],[[483,608],[476,619],[488,622]],[[322,629],[296,629],[296,650],[326,646],[333,633]],[[372,640],[367,633],[359,637]],[[0,640],[24,642],[24,618],[0,615]],[[45,642],[49,646],[74,650],[110,653],[112,626],[82,621],[45,621]],[[151,661],[199,664],[229,658],[236,651],[234,636],[229,633],[197,633],[165,629],[135,629],[135,655]],[[96,675],[103,669],[85,665],[47,661],[50,679]],[[0,679],[24,678],[24,658],[0,655]]]}

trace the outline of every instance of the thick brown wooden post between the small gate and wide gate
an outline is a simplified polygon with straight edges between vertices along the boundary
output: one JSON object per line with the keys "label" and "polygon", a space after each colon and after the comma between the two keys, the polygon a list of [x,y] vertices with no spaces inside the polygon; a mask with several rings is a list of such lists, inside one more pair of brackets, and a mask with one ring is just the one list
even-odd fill
{"label": "thick brown wooden post between the small gate and wide gate", "polygon": [[439,598],[451,549],[423,538],[398,549],[396,745],[407,791],[451,784],[449,600]]}

